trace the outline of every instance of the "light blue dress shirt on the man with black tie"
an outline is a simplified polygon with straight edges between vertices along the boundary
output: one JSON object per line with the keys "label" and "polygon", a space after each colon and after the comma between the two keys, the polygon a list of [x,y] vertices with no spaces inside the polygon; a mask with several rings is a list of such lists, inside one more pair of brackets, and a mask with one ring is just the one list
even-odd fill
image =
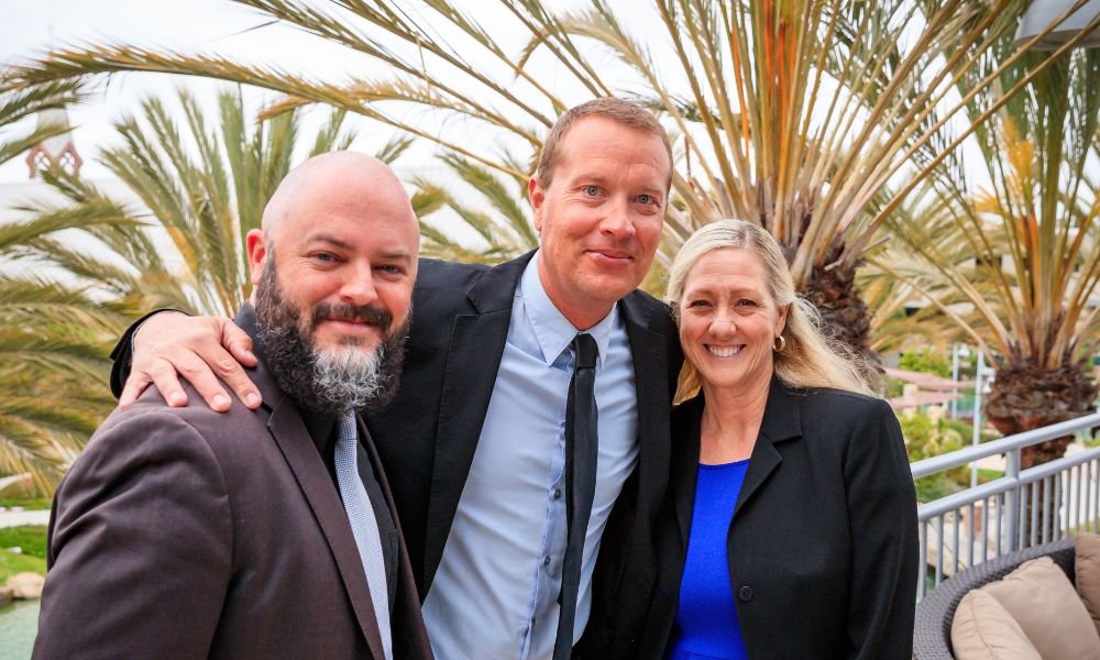
{"label": "light blue dress shirt on the man with black tie", "polygon": [[[573,374],[570,343],[578,330],[542,288],[538,260],[536,254],[516,289],[485,425],[424,603],[428,637],[440,660],[553,653],[568,529],[565,399]],[[634,362],[618,308],[587,332],[600,349],[600,458],[574,641],[588,620],[600,537],[638,460]]]}

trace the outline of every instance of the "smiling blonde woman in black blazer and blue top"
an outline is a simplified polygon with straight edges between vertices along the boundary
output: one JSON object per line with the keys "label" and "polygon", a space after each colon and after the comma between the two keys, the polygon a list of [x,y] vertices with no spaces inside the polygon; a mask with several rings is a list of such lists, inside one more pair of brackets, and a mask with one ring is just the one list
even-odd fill
{"label": "smiling blonde woman in black blazer and blue top", "polygon": [[916,498],[890,407],[822,336],[755,224],[700,229],[668,298],[683,403],[641,648],[678,660],[911,658]]}

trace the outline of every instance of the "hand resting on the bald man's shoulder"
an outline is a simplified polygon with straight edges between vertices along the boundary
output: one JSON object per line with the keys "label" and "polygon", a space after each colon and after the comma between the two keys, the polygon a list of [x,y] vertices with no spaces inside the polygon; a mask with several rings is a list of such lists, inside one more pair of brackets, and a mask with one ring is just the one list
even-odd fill
{"label": "hand resting on the bald man's shoulder", "polygon": [[255,366],[252,339],[229,319],[189,317],[164,311],[150,317],[133,338],[130,377],[119,396],[119,407],[138,400],[146,387],[156,387],[173,407],[187,405],[179,384],[183,376],[211,409],[229,410],[230,398],[219,380],[249,408],[260,406],[260,391],[244,373]]}

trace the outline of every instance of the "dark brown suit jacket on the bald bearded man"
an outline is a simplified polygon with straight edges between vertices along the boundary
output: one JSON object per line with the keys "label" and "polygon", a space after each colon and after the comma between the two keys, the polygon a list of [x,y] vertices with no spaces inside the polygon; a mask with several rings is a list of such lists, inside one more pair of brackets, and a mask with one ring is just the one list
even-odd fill
{"label": "dark brown suit jacket on the bald bearded man", "polygon": [[[35,658],[383,658],[336,484],[295,404],[252,378],[260,410],[150,388],[96,432],[54,499]],[[431,658],[399,556],[394,657]]]}

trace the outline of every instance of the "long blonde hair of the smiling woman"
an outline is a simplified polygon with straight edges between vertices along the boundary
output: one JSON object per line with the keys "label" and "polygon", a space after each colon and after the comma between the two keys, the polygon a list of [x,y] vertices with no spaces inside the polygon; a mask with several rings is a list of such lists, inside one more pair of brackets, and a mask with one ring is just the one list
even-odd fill
{"label": "long blonde hair of the smiling woman", "polygon": [[[736,249],[757,254],[772,298],[789,306],[783,350],[774,352],[774,373],[791,387],[834,387],[877,396],[869,382],[867,361],[822,332],[821,314],[794,289],[794,279],[783,252],[770,233],[744,220],[718,220],[700,228],[688,239],[672,262],[666,300],[680,323],[680,299],[692,266],[715,250]],[[695,365],[684,360],[676,402],[698,393],[702,380]]]}

